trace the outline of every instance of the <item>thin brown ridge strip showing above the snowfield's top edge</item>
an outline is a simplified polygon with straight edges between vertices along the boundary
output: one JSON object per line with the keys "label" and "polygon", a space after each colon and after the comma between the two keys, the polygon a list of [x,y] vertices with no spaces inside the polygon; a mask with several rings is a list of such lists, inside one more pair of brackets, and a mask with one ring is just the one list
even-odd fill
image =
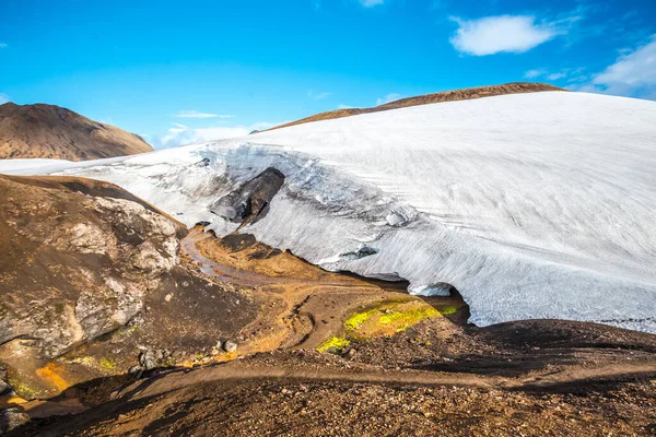
{"label": "thin brown ridge strip showing above the snowfield's top edge", "polygon": [[356,116],[360,114],[378,113],[380,110],[398,109],[408,106],[427,105],[431,103],[441,102],[455,102],[455,101],[468,101],[471,98],[490,97],[502,94],[519,94],[519,93],[537,93],[541,91],[565,91],[558,86],[549,85],[547,83],[529,83],[529,82],[515,82],[506,83],[503,85],[492,86],[478,86],[475,88],[454,90],[445,91],[442,93],[425,94],[415,97],[401,98],[399,101],[390,102],[385,105],[376,106],[373,108],[349,108],[349,109],[337,109],[328,113],[316,114],[311,117],[303,118],[301,120],[292,121],[285,125],[277,126],[269,130],[286,128],[289,126],[302,125],[312,121],[330,120],[333,118],[342,118]]}

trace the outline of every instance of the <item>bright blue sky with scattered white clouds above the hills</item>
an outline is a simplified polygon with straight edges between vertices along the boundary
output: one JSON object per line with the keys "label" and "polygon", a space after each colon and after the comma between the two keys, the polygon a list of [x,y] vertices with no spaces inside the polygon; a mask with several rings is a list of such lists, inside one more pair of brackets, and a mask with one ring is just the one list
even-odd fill
{"label": "bright blue sky with scattered white clouds above the hills", "polygon": [[656,99],[654,0],[0,0],[0,102],[155,146],[514,81]]}

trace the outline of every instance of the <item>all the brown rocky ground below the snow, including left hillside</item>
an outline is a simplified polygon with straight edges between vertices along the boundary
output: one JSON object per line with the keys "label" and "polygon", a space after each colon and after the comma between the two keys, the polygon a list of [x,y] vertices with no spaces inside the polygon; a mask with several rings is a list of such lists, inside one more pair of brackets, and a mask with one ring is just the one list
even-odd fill
{"label": "all the brown rocky ground below the snow, including left hillside", "polygon": [[106,182],[0,177],[0,432],[656,433],[656,336],[467,324],[449,297],[215,238]]}

